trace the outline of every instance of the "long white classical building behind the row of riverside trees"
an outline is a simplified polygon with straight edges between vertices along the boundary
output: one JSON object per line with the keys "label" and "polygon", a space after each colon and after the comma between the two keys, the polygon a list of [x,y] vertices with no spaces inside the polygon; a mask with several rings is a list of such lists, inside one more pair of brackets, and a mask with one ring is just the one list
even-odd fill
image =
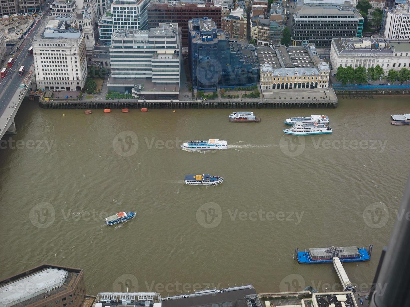
{"label": "long white classical building behind the row of riverside trees", "polygon": [[379,65],[385,73],[410,67],[409,41],[387,41],[379,38],[333,38],[330,47],[332,74],[339,66],[367,68]]}

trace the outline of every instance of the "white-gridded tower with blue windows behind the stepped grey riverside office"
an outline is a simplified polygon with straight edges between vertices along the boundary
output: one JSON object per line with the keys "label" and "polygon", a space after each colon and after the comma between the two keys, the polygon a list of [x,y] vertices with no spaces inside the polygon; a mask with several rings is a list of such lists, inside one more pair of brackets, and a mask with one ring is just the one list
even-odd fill
{"label": "white-gridded tower with blue windows behind the stepped grey riverside office", "polygon": [[113,32],[146,30],[150,0],[114,0],[111,5]]}

